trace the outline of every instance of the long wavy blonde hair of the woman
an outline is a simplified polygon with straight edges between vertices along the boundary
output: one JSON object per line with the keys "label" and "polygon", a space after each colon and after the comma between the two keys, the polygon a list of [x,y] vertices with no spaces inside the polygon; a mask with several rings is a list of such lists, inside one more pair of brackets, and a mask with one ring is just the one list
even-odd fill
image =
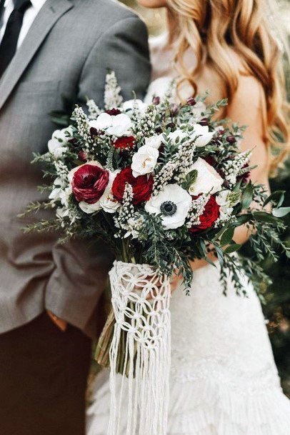
{"label": "long wavy blonde hair of the woman", "polygon": [[[266,4],[263,0],[167,0],[167,4],[177,29],[176,68],[181,81],[189,81],[194,94],[196,76],[206,61],[219,77],[224,97],[231,102],[239,81],[233,50],[246,74],[256,77],[263,86],[264,139],[271,156],[270,171],[275,171],[290,150],[289,106],[283,55],[267,22]],[[184,54],[189,48],[196,55],[192,71],[184,64]]]}

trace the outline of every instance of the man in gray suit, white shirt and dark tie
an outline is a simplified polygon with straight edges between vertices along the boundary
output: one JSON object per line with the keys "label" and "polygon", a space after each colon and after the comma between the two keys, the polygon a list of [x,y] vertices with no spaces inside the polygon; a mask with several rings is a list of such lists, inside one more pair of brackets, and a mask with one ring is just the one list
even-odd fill
{"label": "man in gray suit, white shirt and dark tie", "polygon": [[[114,0],[0,0],[0,434],[84,435],[96,311],[111,254],[24,234],[64,101],[103,104],[107,69],[126,99],[150,79],[144,23]],[[63,98],[65,97],[65,99]],[[43,216],[46,216],[45,214]],[[46,216],[47,217],[47,216]]]}

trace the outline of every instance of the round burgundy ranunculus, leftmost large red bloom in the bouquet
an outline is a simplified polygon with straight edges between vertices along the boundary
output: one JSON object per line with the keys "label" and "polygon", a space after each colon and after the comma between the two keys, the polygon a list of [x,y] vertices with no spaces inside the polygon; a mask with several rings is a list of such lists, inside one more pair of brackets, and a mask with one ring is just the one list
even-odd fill
{"label": "round burgundy ranunculus, leftmost large red bloom in the bouquet", "polygon": [[109,183],[109,171],[94,164],[83,164],[76,169],[71,186],[76,201],[95,204]]}

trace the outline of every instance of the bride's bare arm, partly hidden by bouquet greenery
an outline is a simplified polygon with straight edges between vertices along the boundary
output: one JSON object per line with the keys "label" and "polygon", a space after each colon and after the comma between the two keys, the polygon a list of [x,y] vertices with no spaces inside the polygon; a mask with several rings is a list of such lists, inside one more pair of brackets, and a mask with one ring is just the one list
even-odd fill
{"label": "bride's bare arm, partly hidden by bouquet greenery", "polygon": [[[269,150],[264,140],[264,90],[261,84],[252,76],[240,76],[239,86],[233,100],[228,106],[227,116],[240,125],[246,125],[244,140],[241,143],[241,151],[251,150],[250,166],[256,166],[251,171],[251,181],[256,184],[264,184],[269,191]],[[246,226],[241,226],[234,233],[234,241],[244,244],[250,236]],[[214,253],[209,254],[209,259],[215,260]],[[193,270],[200,269],[208,263],[205,260],[191,262]]]}

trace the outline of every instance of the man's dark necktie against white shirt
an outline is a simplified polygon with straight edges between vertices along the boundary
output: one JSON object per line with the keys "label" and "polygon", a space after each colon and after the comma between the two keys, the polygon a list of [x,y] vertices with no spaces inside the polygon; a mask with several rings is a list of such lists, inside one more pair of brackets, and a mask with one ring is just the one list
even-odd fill
{"label": "man's dark necktie against white shirt", "polygon": [[24,13],[29,6],[31,6],[30,0],[14,1],[14,10],[9,16],[5,33],[0,44],[0,77],[16,53],[17,41],[21,31]]}

